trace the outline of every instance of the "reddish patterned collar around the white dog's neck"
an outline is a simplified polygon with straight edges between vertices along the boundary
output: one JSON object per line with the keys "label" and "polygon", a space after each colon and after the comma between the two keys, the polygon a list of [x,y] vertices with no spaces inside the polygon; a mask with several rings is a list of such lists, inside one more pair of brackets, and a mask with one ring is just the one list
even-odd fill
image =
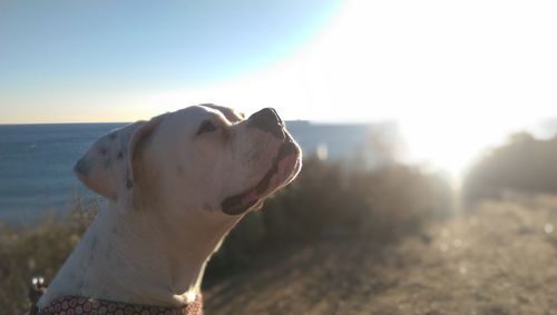
{"label": "reddish patterned collar around the white dog's neck", "polygon": [[186,306],[172,308],[150,305],[134,305],[95,298],[65,296],[52,301],[38,315],[203,315],[203,298],[197,295]]}

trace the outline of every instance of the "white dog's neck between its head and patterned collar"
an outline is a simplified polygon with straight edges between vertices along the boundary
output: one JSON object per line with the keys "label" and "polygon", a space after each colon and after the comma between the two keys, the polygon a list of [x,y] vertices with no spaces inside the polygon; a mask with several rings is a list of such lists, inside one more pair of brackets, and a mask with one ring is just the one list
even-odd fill
{"label": "white dog's neck between its head and patterned collar", "polygon": [[154,209],[126,215],[101,209],[38,306],[62,296],[173,307],[188,304],[201,293],[206,262],[236,222],[178,226]]}

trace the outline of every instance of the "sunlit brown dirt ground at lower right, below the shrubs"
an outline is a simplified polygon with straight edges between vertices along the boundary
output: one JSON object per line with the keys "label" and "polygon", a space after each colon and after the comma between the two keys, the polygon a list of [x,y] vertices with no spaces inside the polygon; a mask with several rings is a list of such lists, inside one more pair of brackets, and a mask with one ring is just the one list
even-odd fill
{"label": "sunlit brown dirt ground at lower right, below the shrubs", "polygon": [[264,264],[206,289],[205,313],[557,314],[557,199],[509,197],[383,249],[321,243]]}

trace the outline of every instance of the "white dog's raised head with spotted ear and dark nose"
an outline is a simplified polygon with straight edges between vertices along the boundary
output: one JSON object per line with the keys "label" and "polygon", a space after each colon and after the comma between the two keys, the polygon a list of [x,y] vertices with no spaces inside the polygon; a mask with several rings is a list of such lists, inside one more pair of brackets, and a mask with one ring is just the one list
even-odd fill
{"label": "white dog's raised head with spotted ear and dark nose", "polygon": [[98,139],[76,164],[123,213],[160,208],[238,217],[294,179],[301,150],[271,108],[250,118],[215,105],[138,121]]}

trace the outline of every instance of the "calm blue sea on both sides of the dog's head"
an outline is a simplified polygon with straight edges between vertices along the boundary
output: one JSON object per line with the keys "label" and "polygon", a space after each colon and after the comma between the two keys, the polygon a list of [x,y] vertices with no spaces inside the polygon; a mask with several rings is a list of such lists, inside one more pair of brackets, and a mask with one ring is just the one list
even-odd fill
{"label": "calm blue sea on both sides of the dog's head", "polygon": [[[96,139],[125,125],[0,125],[0,222],[63,213],[78,198],[95,198],[77,180],[72,167]],[[305,156],[336,161],[353,159],[369,145],[370,130],[375,128],[309,121],[286,125]]]}

